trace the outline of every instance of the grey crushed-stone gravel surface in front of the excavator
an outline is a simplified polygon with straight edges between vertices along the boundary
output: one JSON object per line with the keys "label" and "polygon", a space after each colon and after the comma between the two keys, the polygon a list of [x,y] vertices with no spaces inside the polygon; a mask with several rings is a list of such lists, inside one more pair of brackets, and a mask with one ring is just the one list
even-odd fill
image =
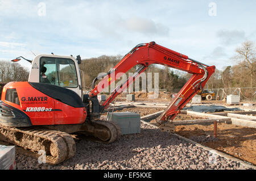
{"label": "grey crushed-stone gravel surface in front of the excavator", "polygon": [[109,145],[76,138],[76,155],[59,165],[39,164],[16,153],[17,169],[248,169],[141,123],[141,134]]}

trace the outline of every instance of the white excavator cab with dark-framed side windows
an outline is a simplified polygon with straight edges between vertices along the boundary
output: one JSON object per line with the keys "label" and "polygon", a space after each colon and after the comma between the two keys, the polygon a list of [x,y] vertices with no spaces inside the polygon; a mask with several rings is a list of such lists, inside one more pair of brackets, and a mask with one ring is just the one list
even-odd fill
{"label": "white excavator cab with dark-framed side windows", "polygon": [[28,82],[48,83],[75,91],[82,98],[78,61],[72,56],[39,54],[31,62]]}

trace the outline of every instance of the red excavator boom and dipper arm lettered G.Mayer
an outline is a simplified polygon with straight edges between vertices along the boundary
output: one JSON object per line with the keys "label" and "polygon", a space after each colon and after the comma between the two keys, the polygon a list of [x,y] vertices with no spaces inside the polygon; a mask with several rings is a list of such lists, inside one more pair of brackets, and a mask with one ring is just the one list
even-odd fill
{"label": "red excavator boom and dipper arm lettered G.Mayer", "polygon": [[133,76],[126,80],[126,82],[121,86],[116,87],[113,94],[101,105],[101,111],[105,110],[115,97],[125,90],[130,83],[132,83],[135,78],[137,78],[139,74],[146,70],[151,64],[160,64],[170,68],[187,71],[192,74],[188,82],[185,83],[183,88],[177,93],[177,96],[172,99],[166,110],[156,120],[159,124],[162,124],[167,120],[173,120],[189,100],[191,100],[199,90],[203,89],[205,83],[215,70],[215,66],[205,65],[184,54],[162,47],[152,41],[151,43],[139,44],[134,47],[96,86],[94,86],[94,83],[97,78],[94,79],[93,90],[89,92],[89,96],[93,98],[114,82],[115,79],[119,79],[122,74],[126,73],[135,65],[142,65]]}

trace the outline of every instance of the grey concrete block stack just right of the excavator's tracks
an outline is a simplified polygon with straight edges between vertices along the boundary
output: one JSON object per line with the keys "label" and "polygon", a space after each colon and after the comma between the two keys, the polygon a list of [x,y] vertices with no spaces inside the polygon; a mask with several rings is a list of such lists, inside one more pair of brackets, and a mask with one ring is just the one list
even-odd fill
{"label": "grey concrete block stack just right of the excavator's tracks", "polygon": [[122,134],[141,133],[141,115],[138,113],[110,112],[107,120],[119,125]]}

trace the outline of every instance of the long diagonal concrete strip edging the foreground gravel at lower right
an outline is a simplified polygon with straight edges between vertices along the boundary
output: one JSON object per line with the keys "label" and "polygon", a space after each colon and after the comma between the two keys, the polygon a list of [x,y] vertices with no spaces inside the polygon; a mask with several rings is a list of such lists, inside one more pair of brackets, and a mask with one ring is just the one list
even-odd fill
{"label": "long diagonal concrete strip edging the foreground gravel at lower right", "polygon": [[[143,117],[142,117],[142,118],[143,118]],[[158,129],[158,127],[157,127],[156,125],[153,125],[153,124],[148,123],[148,122],[143,121],[143,120],[141,120],[141,121],[142,121],[142,123],[144,123],[144,124],[150,125],[151,127],[154,127],[154,128],[157,128],[157,129]],[[221,157],[224,157],[224,158],[226,158],[226,159],[231,159],[232,161],[239,162],[239,163],[240,163],[241,165],[243,165],[243,166],[246,166],[246,167],[249,167],[249,168],[251,168],[251,169],[256,170],[256,166],[252,165],[251,163],[247,163],[247,162],[245,162],[245,161],[242,161],[241,159],[234,158],[234,157],[232,157],[232,156],[230,156],[230,155],[227,155],[227,154],[225,154],[225,153],[222,153],[222,152],[220,152],[220,151],[214,150],[214,149],[209,148],[209,147],[207,147],[207,146],[203,146],[203,145],[201,145],[201,144],[199,144],[199,143],[197,143],[197,142],[195,142],[195,141],[189,140],[188,138],[185,138],[185,137],[180,136],[180,135],[178,135],[178,134],[173,134],[173,135],[176,136],[176,137],[179,137],[181,140],[184,140],[184,141],[187,141],[187,142],[191,142],[192,144],[195,144],[196,146],[199,146],[200,148],[203,148],[203,149],[205,149],[205,150],[208,150],[208,151],[210,151],[210,153],[220,155]]]}

